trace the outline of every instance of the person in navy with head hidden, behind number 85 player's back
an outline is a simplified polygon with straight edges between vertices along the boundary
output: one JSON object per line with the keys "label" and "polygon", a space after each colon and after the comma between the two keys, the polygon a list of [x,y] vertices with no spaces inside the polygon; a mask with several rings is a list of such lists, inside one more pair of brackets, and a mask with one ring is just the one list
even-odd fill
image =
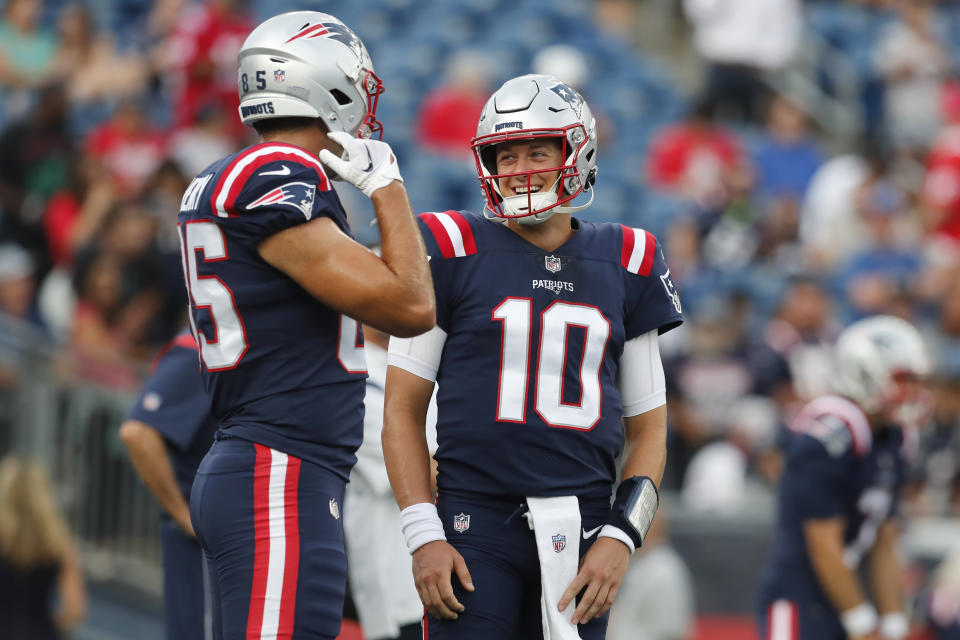
{"label": "person in navy with head hidden, behind number 85 player's back", "polygon": [[213,603],[203,550],[190,524],[190,487],[217,429],[197,369],[189,331],[157,356],[120,438],[147,488],[163,507],[163,607],[166,637],[213,638]]}

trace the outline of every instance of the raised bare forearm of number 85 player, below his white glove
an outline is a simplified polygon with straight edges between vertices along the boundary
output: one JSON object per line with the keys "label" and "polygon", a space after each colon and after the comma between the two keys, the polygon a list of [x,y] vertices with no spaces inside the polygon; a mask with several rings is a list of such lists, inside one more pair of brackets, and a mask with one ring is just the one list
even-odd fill
{"label": "raised bare forearm of number 85 player, below his white glove", "polygon": [[383,261],[399,281],[396,293],[411,313],[427,316],[432,322],[436,313],[433,279],[407,191],[402,183],[394,182],[374,192],[371,200],[380,224]]}

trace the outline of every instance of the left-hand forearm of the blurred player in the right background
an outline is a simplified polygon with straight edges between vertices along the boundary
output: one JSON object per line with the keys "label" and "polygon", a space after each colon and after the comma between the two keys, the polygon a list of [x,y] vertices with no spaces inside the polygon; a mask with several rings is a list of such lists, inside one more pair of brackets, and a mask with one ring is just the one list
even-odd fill
{"label": "left-hand forearm of the blurred player in the right background", "polygon": [[866,602],[857,575],[843,561],[843,521],[804,524],[807,552],[817,581],[838,613]]}

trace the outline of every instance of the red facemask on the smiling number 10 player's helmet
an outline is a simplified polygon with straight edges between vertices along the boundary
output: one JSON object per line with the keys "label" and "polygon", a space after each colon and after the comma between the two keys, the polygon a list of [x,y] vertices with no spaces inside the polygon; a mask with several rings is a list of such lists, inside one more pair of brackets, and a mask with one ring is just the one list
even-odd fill
{"label": "red facemask on the smiling number 10 player's helmet", "polygon": [[[499,145],[535,140],[559,141],[560,157],[563,158],[561,164],[513,173],[498,172],[496,152]],[[592,180],[583,184],[577,166],[577,158],[586,143],[584,126],[579,123],[562,129],[509,131],[474,138],[473,153],[487,209],[497,218],[516,220],[520,224],[539,224],[554,213],[579,210],[582,207],[568,208],[564,205],[592,186]],[[557,177],[545,189],[532,192],[533,176],[543,173],[557,173]],[[526,177],[526,194],[504,195],[501,180],[517,176]]]}

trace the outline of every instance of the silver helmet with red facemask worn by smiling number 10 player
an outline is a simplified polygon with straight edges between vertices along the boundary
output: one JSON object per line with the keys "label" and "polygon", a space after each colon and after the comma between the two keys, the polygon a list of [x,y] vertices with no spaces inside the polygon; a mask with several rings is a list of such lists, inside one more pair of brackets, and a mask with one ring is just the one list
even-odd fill
{"label": "silver helmet with red facemask worn by smiling number 10 player", "polygon": [[[564,158],[561,166],[498,173],[498,144],[543,138],[560,141],[561,157]],[[520,76],[497,89],[483,107],[472,147],[486,208],[498,218],[516,219],[521,224],[539,224],[554,213],[580,211],[593,202],[593,185],[597,177],[596,119],[583,96],[553,76]],[[554,171],[560,172],[557,184],[547,191],[531,193],[531,175]],[[524,175],[527,177],[527,193],[504,196],[500,180]],[[590,200],[585,204],[566,204],[584,191],[590,191]]]}

